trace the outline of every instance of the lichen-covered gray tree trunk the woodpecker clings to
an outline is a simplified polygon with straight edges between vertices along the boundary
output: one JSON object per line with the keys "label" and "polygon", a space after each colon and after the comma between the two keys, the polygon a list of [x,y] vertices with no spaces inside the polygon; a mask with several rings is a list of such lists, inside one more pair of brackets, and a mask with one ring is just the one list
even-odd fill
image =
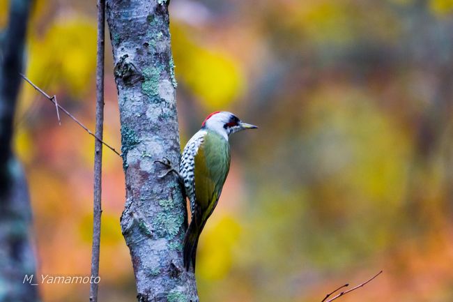
{"label": "lichen-covered gray tree trunk the woodpecker clings to", "polygon": [[154,160],[180,160],[174,65],[165,0],[107,0],[126,183],[123,236],[138,301],[199,301],[183,268],[187,211],[176,176]]}

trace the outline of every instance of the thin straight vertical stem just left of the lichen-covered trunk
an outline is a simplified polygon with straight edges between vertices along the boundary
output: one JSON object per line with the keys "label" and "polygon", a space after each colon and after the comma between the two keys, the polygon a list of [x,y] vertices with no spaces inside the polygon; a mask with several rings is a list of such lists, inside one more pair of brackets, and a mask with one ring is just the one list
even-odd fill
{"label": "thin straight vertical stem just left of the lichen-covered trunk", "polygon": [[[91,276],[99,275],[100,218],[102,214],[102,134],[104,127],[104,38],[105,0],[98,0],[98,47],[96,65],[96,135],[94,146],[93,248]],[[90,301],[98,302],[98,282],[91,282]]]}

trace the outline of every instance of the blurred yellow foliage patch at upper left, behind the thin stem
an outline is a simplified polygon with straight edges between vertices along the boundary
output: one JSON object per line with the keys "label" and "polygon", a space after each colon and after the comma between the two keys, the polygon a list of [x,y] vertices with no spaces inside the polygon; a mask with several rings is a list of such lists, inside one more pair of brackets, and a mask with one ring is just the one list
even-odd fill
{"label": "blurred yellow foliage patch at upper left, behind the thin stem", "polygon": [[33,56],[27,75],[38,86],[50,91],[66,86],[75,97],[89,91],[96,63],[93,22],[84,17],[57,20],[43,38],[32,36],[29,44]]}

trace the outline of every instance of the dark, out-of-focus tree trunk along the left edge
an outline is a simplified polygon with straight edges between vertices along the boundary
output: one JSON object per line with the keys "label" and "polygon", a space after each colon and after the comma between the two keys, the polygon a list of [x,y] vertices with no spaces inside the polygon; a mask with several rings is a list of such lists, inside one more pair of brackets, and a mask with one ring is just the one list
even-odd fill
{"label": "dark, out-of-focus tree trunk along the left edge", "polygon": [[35,272],[29,238],[31,209],[20,163],[13,155],[13,120],[23,68],[31,1],[10,1],[0,68],[0,301],[37,301],[36,287],[24,281]]}

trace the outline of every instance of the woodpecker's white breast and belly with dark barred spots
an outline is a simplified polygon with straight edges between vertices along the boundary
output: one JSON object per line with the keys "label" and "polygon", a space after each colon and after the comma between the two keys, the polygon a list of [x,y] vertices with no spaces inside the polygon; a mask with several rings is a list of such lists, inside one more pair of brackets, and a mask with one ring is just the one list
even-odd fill
{"label": "woodpecker's white breast and belly with dark barred spots", "polygon": [[190,200],[190,211],[194,213],[195,206],[195,156],[198,153],[199,146],[203,144],[205,130],[199,130],[192,136],[184,147],[183,154],[181,155],[181,165],[179,171],[184,179],[185,194]]}

